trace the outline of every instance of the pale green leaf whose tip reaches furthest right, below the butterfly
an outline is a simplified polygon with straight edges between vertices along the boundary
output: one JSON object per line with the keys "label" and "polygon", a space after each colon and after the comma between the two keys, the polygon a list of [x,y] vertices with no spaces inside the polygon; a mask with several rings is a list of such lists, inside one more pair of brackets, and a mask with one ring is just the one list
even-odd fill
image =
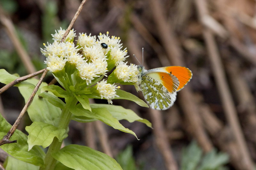
{"label": "pale green leaf whose tip reaches furthest right, below the butterfly", "polygon": [[127,120],[128,122],[142,122],[145,123],[148,127],[152,128],[152,124],[147,120],[138,116],[131,109],[125,109],[122,106],[108,105],[108,104],[91,104],[93,108],[106,108],[108,111],[115,117],[117,120]]}

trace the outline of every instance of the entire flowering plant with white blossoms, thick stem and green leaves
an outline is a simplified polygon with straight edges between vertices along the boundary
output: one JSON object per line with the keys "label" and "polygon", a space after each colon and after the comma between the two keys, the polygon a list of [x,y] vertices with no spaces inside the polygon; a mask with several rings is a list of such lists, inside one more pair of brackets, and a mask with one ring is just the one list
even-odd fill
{"label": "entire flowering plant with white blossoms, thick stem and green leaves", "polygon": [[[17,143],[0,146],[11,155],[4,162],[6,170],[17,167],[27,170],[119,170],[122,168],[115,159],[87,146],[70,144],[61,148],[63,140],[68,137],[69,122],[100,120],[135,137],[136,134],[120,124],[119,120],[139,121],[151,127],[148,120],[139,117],[132,110],[112,105],[112,100],[124,99],[148,107],[143,100],[120,89],[119,84],[123,84],[134,85],[139,90],[137,66],[127,65],[125,62],[127,50],[123,49],[120,38],[110,37],[108,32],[100,33],[97,37],[79,33],[75,45],[74,30],[68,33],[65,41],[60,41],[65,31],[60,28],[52,34],[54,42],[44,44],[45,48],[41,48],[46,56],[47,70],[52,72],[62,87],[44,82],[40,85],[28,108],[29,118],[33,122],[25,128],[28,136],[15,130],[11,139],[17,139]],[[107,46],[104,44],[103,48],[102,43]],[[110,73],[111,70],[113,71]],[[0,82],[4,84],[17,78],[4,69],[0,70]],[[31,78],[15,85],[26,101],[37,81]],[[90,104],[89,99],[107,100],[108,104]],[[4,136],[11,125],[2,116],[0,122],[0,135]],[[44,153],[42,147],[48,146]]]}

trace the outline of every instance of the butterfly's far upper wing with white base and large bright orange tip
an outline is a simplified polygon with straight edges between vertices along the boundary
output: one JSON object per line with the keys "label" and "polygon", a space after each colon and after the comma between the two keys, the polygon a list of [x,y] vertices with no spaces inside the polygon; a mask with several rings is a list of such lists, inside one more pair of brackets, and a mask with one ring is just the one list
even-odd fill
{"label": "butterfly's far upper wing with white base and large bright orange tip", "polygon": [[148,70],[148,72],[165,72],[174,75],[180,82],[177,92],[180,91],[192,78],[192,72],[188,68],[181,66],[160,67]]}

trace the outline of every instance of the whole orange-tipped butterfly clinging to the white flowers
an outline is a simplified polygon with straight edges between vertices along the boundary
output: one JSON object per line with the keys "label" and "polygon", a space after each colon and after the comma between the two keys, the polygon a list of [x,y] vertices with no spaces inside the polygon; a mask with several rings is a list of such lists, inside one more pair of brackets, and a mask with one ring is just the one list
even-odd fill
{"label": "whole orange-tipped butterfly clinging to the white flowers", "polygon": [[192,78],[192,72],[181,66],[146,70],[138,65],[138,84],[151,108],[166,110],[176,100],[179,92]]}

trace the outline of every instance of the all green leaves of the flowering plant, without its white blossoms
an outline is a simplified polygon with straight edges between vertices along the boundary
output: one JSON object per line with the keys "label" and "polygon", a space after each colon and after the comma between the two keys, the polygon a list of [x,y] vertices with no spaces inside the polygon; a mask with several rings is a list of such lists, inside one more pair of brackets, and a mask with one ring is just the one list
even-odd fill
{"label": "all green leaves of the flowering plant, without its white blossoms", "polygon": [[[17,76],[9,74],[4,69],[0,70],[0,82],[2,83],[8,84],[17,78]],[[44,82],[41,84],[33,102],[28,108],[29,118],[33,122],[30,126],[26,127],[29,135],[27,136],[21,131],[16,130],[11,140],[18,139],[18,142],[1,146],[11,156],[21,160],[15,162],[14,158],[8,158],[5,162],[8,169],[13,169],[15,167],[13,165],[24,167],[24,169],[38,169],[38,166],[41,166],[41,168],[44,167],[45,153],[39,146],[44,148],[49,146],[55,141],[53,140],[54,137],[57,137],[59,139],[58,141],[61,142],[67,137],[67,129],[60,128],[61,117],[68,120],[68,117],[62,115],[62,113],[66,113],[67,111],[70,112],[69,114],[71,114],[70,117],[72,120],[78,122],[100,120],[112,126],[114,129],[130,133],[135,137],[137,137],[136,134],[132,130],[125,128],[119,120],[127,120],[129,122],[138,121],[151,127],[151,123],[148,120],[139,117],[130,109],[115,105],[90,104],[89,98],[101,98],[94,92],[95,88],[91,86],[101,80],[102,77],[93,80],[89,85],[84,84],[80,79],[74,79],[74,76],[64,79],[57,78],[65,89],[56,85],[47,86]],[[80,82],[82,84],[72,85],[71,79],[73,82]],[[15,85],[18,86],[25,101],[30,97],[37,82],[38,80],[31,78]],[[131,100],[141,106],[148,107],[143,100],[128,92],[117,90],[117,94],[119,97],[115,99]],[[66,103],[60,98],[64,98]],[[0,134],[4,136],[11,128],[11,125],[3,117],[1,118]],[[68,170],[70,168],[122,169],[114,159],[106,154],[94,151],[85,146],[68,145],[61,150],[57,148],[56,152],[52,152],[51,155],[59,161],[53,166],[55,170]],[[15,164],[12,165],[12,162],[15,162]]]}

